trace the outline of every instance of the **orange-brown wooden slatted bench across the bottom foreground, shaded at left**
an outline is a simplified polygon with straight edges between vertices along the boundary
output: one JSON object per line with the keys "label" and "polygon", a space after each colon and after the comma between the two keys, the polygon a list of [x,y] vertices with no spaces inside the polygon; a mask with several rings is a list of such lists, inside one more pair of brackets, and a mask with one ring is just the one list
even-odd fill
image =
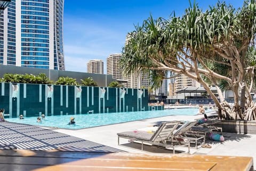
{"label": "orange-brown wooden slatted bench across the bottom foreground, shaded at left", "polygon": [[5,170],[253,170],[252,157],[0,150]]}

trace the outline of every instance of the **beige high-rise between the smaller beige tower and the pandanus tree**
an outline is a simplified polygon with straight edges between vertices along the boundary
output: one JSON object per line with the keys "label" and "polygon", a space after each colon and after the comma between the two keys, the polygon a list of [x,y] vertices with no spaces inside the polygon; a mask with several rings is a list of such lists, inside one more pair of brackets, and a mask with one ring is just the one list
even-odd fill
{"label": "beige high-rise between the smaller beige tower and the pandanus tree", "polygon": [[115,79],[122,79],[122,72],[119,61],[121,54],[110,54],[107,58],[107,74],[112,75]]}

